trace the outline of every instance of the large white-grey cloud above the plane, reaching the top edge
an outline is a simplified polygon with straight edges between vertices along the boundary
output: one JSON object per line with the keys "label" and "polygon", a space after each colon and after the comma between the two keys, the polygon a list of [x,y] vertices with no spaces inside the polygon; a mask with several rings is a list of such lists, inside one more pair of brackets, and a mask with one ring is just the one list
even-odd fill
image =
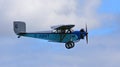
{"label": "large white-grey cloud above the plane, reaching the top edge", "polygon": [[96,12],[100,0],[86,0],[84,4],[79,4],[78,0],[12,0],[1,3],[1,27],[5,29],[0,29],[2,35],[13,30],[14,20],[25,21],[28,31],[48,30],[50,26],[59,24],[75,24],[75,29],[84,27],[86,23],[89,29],[100,26]]}

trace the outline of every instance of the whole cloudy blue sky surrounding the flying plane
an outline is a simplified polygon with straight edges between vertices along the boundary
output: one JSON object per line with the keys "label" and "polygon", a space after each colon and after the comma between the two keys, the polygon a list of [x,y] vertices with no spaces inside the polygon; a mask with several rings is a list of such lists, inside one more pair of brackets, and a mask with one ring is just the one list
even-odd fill
{"label": "whole cloudy blue sky surrounding the flying plane", "polygon": [[[120,67],[118,0],[0,0],[0,67]],[[68,50],[62,43],[21,37],[13,21],[27,31],[49,30],[58,24],[89,29],[85,40]]]}

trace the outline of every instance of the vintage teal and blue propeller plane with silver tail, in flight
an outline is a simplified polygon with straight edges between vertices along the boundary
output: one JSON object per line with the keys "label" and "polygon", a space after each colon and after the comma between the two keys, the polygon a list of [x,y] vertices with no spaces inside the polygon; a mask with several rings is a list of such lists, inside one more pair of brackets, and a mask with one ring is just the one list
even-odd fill
{"label": "vintage teal and blue propeller plane with silver tail, in flight", "polygon": [[14,32],[21,36],[33,37],[39,39],[45,39],[49,42],[59,42],[65,43],[67,49],[71,49],[75,46],[75,42],[80,41],[86,37],[86,42],[88,43],[88,32],[87,25],[86,31],[81,29],[80,31],[73,31],[72,28],[75,25],[58,25],[52,26],[52,31],[41,31],[41,32],[26,32],[26,24],[23,21],[14,21]]}

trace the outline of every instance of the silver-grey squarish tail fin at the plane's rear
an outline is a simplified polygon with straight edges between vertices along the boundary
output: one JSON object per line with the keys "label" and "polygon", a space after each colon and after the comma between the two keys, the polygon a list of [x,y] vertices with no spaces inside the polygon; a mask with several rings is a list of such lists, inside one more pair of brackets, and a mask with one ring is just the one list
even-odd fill
{"label": "silver-grey squarish tail fin at the plane's rear", "polygon": [[20,33],[26,33],[26,24],[22,21],[14,21],[14,32],[18,35]]}

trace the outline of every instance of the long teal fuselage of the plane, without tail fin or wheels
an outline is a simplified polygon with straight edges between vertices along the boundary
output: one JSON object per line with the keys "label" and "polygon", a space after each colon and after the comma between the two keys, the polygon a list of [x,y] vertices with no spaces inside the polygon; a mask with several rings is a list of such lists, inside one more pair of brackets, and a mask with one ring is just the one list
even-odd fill
{"label": "long teal fuselage of the plane, without tail fin or wheels", "polygon": [[66,43],[69,41],[76,42],[77,40],[79,40],[80,38],[79,34],[80,33],[73,32],[73,33],[22,33],[19,35],[25,36],[25,37],[45,39],[45,40],[54,41],[54,42]]}

